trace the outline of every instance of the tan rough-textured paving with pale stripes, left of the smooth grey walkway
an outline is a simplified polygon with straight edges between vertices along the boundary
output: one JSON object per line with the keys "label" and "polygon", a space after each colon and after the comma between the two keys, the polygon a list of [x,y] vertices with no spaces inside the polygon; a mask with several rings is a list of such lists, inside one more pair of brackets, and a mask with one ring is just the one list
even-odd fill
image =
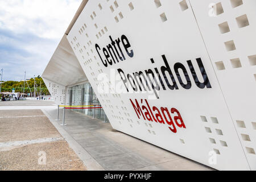
{"label": "tan rough-textured paving with pale stripes, left of the smooth grey walkway", "polygon": [[0,110],[0,171],[85,169],[41,110]]}

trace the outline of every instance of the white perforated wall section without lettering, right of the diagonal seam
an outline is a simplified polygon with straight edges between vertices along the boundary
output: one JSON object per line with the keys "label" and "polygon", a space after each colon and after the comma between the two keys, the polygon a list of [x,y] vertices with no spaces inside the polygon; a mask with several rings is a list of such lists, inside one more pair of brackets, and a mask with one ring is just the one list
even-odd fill
{"label": "white perforated wall section without lettering, right of the diagonal seam", "polygon": [[[207,16],[208,12],[202,10],[210,2],[219,3],[217,16]],[[191,5],[246,158],[255,170],[256,1],[192,0]]]}

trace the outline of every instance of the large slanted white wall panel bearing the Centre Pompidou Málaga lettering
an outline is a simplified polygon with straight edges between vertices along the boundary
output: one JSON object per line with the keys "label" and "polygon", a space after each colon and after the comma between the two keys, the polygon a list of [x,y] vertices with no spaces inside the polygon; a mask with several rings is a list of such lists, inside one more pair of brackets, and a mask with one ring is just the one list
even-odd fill
{"label": "large slanted white wall panel bearing the Centre Pompidou M\u00e1laga lettering", "polygon": [[[104,56],[104,47],[115,49],[109,45],[112,42],[109,36],[117,40],[115,55],[123,53],[125,60],[119,59],[118,63],[112,52],[113,58],[110,56],[109,61],[114,59],[115,64],[105,67],[110,53],[105,52],[107,56]],[[216,169],[249,169],[189,1],[89,1],[67,38],[114,129]],[[99,53],[96,44],[100,47]],[[174,89],[171,84],[168,86],[161,71],[167,67],[162,55],[174,76]],[[200,69],[198,63],[202,63]],[[105,86],[114,82],[115,86],[124,85],[115,80],[115,76],[120,78],[118,69],[122,69],[125,76],[157,70],[163,80],[162,85],[159,78],[156,79],[160,85],[159,98],[150,99],[147,93],[131,93],[131,88],[129,93],[117,93],[113,88],[109,89],[110,93],[100,93],[98,88],[102,82],[98,78],[104,74],[110,79]],[[164,73],[171,82],[172,75]],[[133,84],[134,77],[130,79]],[[132,105],[136,100],[144,109],[145,119],[142,114],[137,115]],[[162,121],[156,120],[156,111],[151,113],[148,108],[153,110],[153,106],[159,110],[167,108],[171,118],[165,112],[167,119],[164,119],[163,111],[159,111],[164,120],[160,123]],[[177,111],[183,125],[181,119],[176,118]],[[148,121],[150,117],[152,121]],[[212,151],[216,154],[216,163]]]}

